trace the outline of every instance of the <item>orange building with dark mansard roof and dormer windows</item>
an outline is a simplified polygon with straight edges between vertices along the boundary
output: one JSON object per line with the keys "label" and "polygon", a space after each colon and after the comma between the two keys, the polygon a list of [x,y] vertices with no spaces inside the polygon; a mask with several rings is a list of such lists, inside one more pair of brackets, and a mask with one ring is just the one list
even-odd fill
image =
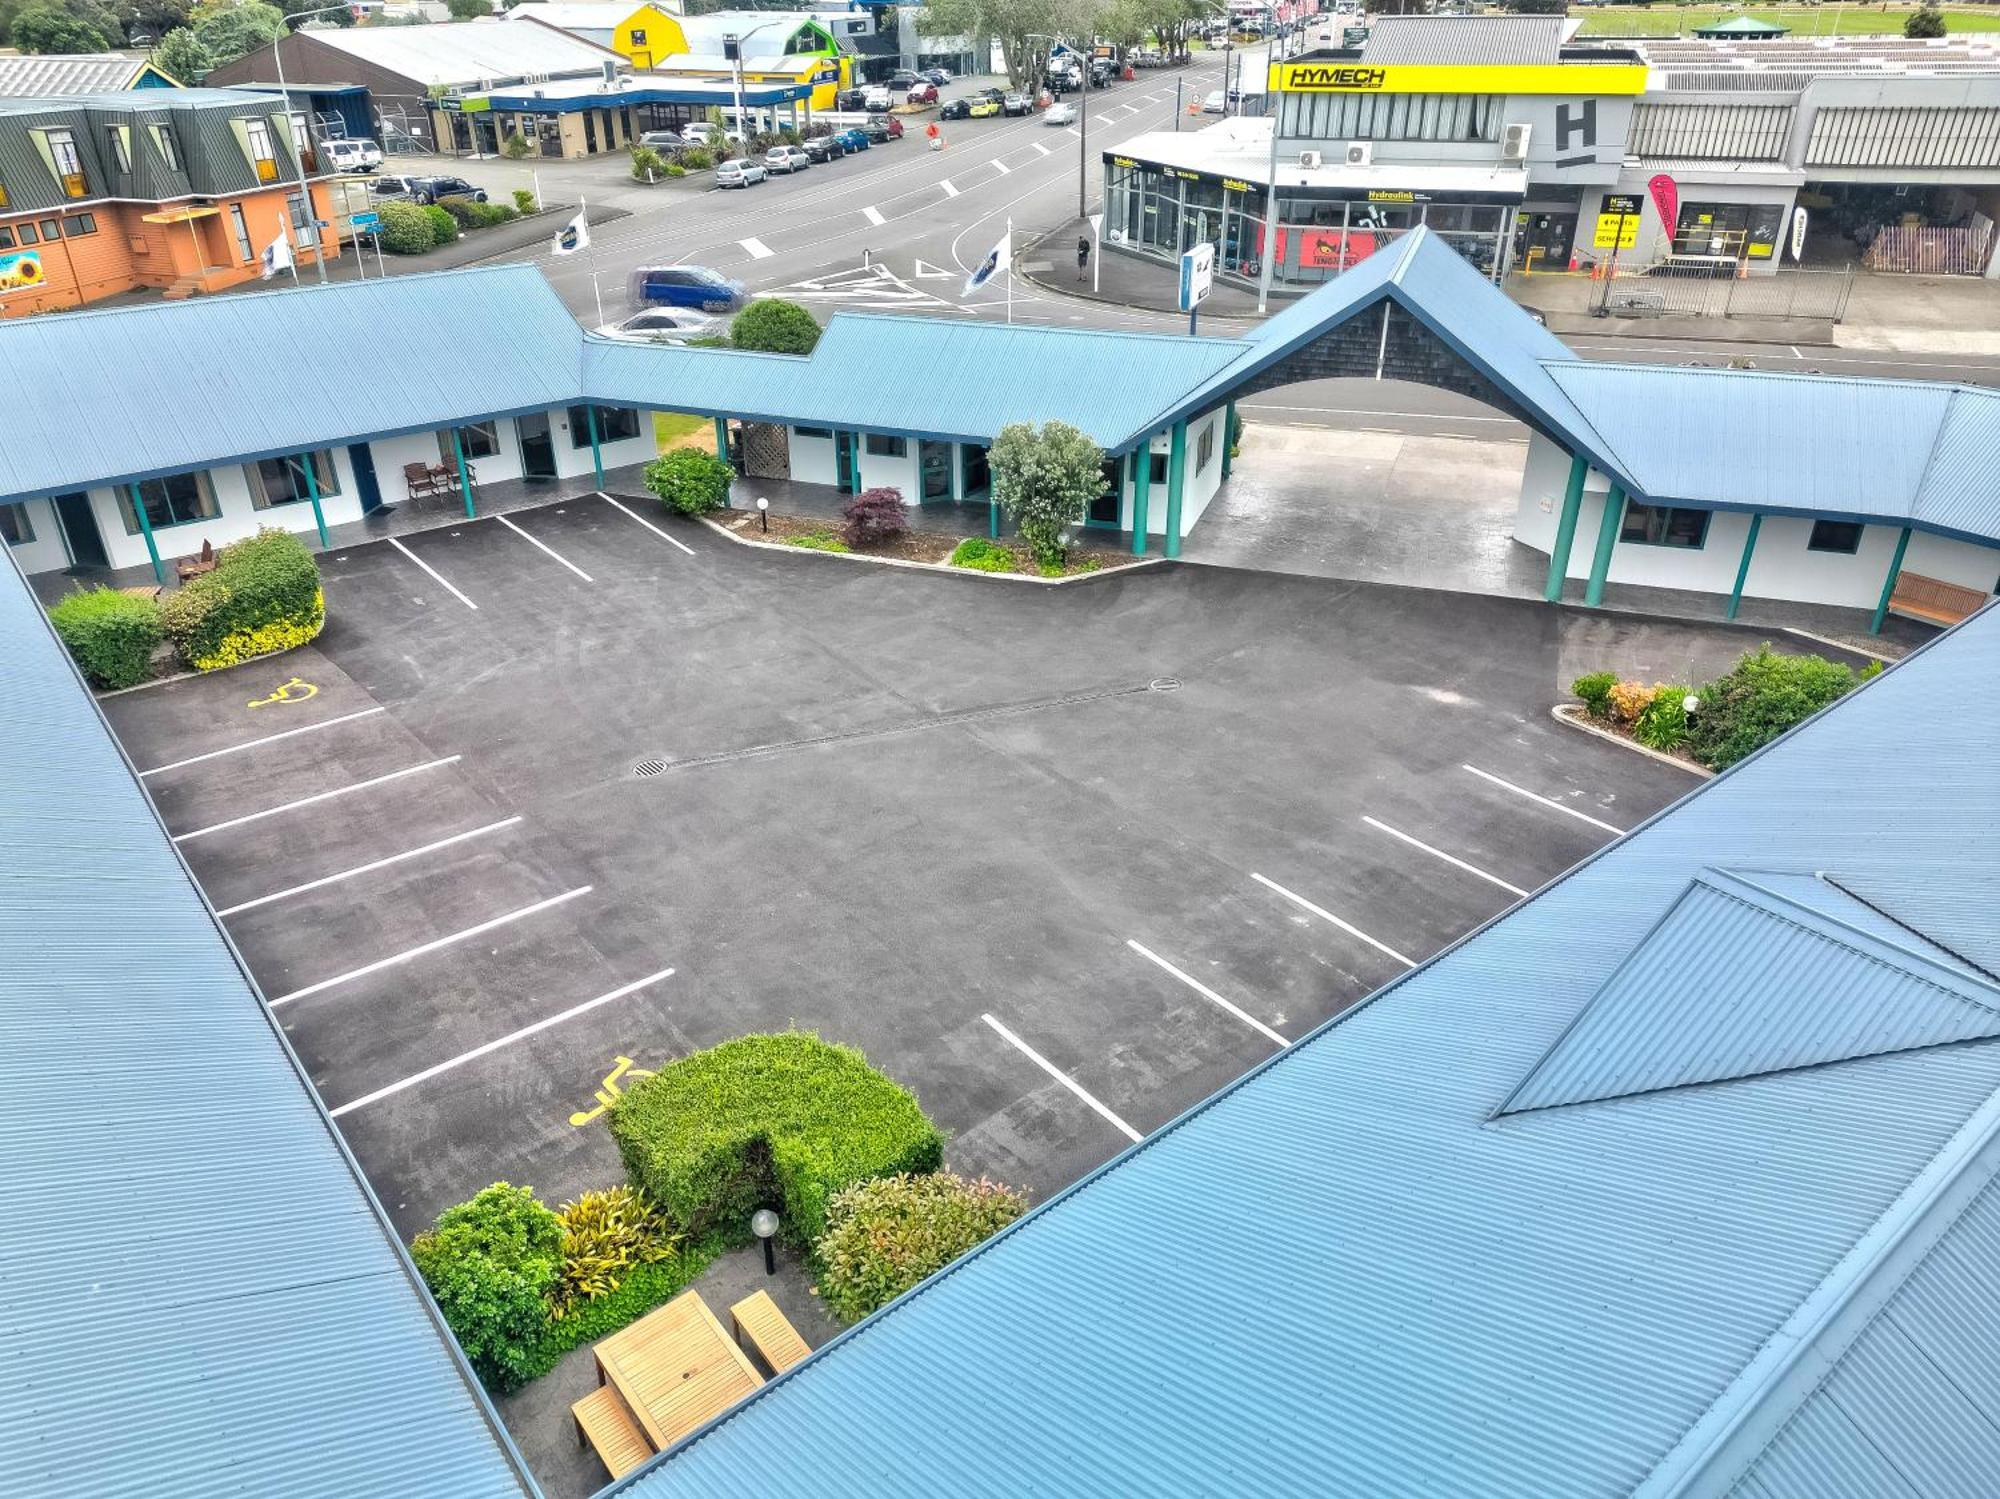
{"label": "orange building with dark mansard roof and dormer windows", "polygon": [[0,318],[238,286],[282,236],[304,264],[336,256],[328,178],[306,118],[262,94],[0,100]]}

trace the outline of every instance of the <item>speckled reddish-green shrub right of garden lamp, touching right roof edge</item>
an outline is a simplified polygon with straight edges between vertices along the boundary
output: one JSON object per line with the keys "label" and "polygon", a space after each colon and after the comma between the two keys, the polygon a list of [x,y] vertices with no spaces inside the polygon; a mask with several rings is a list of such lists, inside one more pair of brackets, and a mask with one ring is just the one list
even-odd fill
{"label": "speckled reddish-green shrub right of garden lamp, touching right roof edge", "polygon": [[950,1171],[858,1181],[826,1209],[814,1245],[820,1299],[860,1321],[1028,1211],[1020,1193]]}

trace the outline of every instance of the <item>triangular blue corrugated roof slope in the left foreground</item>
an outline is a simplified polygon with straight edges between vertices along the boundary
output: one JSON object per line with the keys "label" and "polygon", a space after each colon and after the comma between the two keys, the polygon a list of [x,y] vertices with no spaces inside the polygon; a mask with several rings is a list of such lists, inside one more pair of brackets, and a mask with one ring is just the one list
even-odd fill
{"label": "triangular blue corrugated roof slope in the left foreground", "polygon": [[10,562],[0,682],[0,1487],[532,1495]]}

